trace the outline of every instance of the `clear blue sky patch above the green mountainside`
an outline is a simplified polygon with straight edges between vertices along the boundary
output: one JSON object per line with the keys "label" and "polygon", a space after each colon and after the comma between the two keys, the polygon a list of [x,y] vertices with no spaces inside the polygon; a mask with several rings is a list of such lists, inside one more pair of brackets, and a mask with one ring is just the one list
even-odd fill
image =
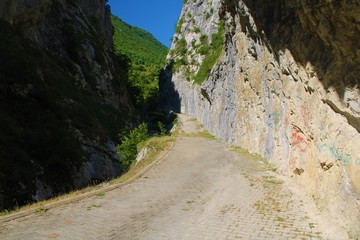
{"label": "clear blue sky patch above the green mountainside", "polygon": [[184,0],[109,0],[111,12],[170,47]]}

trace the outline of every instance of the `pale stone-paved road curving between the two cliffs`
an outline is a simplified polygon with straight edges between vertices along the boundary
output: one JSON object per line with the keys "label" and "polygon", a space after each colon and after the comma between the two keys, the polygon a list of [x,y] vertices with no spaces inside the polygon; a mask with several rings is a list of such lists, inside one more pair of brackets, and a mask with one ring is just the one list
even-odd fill
{"label": "pale stone-paved road curving between the two cliffs", "polygon": [[348,239],[271,166],[180,120],[174,147],[141,178],[2,222],[0,239]]}

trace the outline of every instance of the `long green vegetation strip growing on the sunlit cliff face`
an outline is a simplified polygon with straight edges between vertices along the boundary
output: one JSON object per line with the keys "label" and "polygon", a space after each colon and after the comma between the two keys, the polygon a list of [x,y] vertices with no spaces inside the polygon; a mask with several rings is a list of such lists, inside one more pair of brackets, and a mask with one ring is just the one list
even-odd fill
{"label": "long green vegetation strip growing on the sunlit cliff face", "polygon": [[[202,41],[205,41],[205,39],[203,39]],[[210,46],[207,47],[205,45],[199,49],[199,53],[204,54],[205,59],[203,60],[198,73],[194,77],[195,83],[200,85],[206,80],[206,78],[210,74],[211,69],[215,65],[218,58],[220,57],[223,50],[223,46],[224,46],[224,25],[222,22],[220,22],[218,27],[218,32],[214,33],[211,37]]]}

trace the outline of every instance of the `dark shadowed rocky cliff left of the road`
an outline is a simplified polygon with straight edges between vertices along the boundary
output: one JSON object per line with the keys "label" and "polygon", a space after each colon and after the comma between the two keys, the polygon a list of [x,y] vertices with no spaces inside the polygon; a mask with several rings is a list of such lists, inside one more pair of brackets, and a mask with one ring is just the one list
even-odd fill
{"label": "dark shadowed rocky cliff left of the road", "polygon": [[136,114],[106,1],[1,1],[0,24],[0,209],[119,175]]}

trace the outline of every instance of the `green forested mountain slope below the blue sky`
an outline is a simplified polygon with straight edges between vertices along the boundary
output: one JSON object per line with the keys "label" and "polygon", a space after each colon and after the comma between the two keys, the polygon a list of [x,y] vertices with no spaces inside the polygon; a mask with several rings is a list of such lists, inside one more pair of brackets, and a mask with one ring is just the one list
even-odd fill
{"label": "green forested mountain slope below the blue sky", "polygon": [[165,66],[168,48],[149,32],[130,26],[112,16],[114,47],[117,54],[127,56],[131,96],[139,109],[148,111],[158,100],[159,73]]}

